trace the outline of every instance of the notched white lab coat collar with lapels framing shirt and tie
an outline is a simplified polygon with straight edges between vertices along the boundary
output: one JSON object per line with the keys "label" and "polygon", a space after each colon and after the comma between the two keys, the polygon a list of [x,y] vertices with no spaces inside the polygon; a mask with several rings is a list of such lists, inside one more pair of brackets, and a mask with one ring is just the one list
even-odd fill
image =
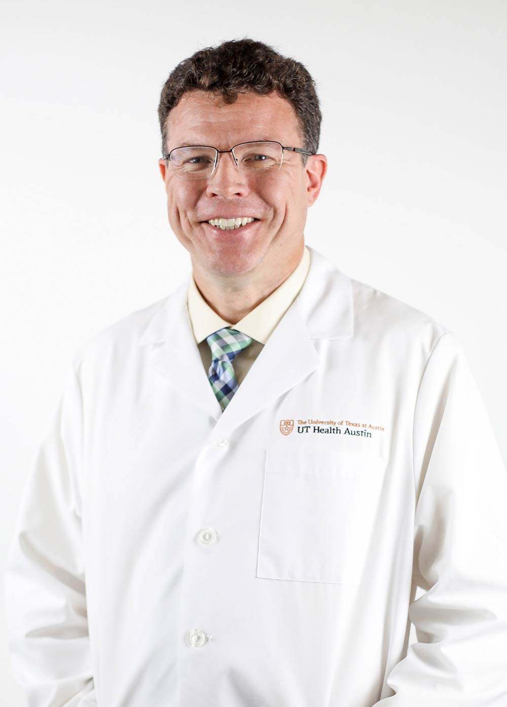
{"label": "notched white lab coat collar with lapels framing shirt and tie", "polygon": [[308,246],[310,269],[291,306],[224,411],[202,366],[187,310],[190,273],[165,298],[139,339],[150,346],[151,363],[181,395],[216,420],[214,433],[227,436],[260,409],[316,370],[319,356],[312,339],[339,339],[354,333],[349,277]]}

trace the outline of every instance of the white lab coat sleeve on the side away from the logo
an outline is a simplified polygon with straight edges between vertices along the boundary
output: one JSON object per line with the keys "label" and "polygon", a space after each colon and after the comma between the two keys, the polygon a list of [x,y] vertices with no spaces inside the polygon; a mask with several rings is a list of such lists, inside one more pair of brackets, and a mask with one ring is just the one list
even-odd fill
{"label": "white lab coat sleeve on the side away from the logo", "polygon": [[8,648],[28,707],[96,707],[81,535],[76,357],[30,467],[4,566]]}

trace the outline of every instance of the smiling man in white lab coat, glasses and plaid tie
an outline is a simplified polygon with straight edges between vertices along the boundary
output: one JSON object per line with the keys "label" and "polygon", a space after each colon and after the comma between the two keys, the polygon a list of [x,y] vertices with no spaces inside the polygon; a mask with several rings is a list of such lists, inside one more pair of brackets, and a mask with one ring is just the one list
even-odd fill
{"label": "smiling man in white lab coat, glasses and plaid tie", "polygon": [[224,42],[159,116],[192,273],[76,353],[30,473],[30,707],[505,707],[499,448],[454,334],[304,245],[308,71]]}

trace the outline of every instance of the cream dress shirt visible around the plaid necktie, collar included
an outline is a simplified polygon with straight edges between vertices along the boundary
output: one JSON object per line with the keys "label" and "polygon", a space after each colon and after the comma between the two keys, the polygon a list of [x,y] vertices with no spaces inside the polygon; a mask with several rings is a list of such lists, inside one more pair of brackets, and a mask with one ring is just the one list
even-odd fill
{"label": "cream dress shirt visible around the plaid necktie, collar included", "polygon": [[199,353],[201,354],[202,364],[206,369],[206,373],[211,365],[211,349],[206,337],[209,337],[209,334],[213,334],[222,327],[234,327],[234,329],[246,334],[247,337],[254,339],[246,349],[243,349],[235,356],[233,361],[236,380],[238,380],[238,385],[241,383],[250,370],[250,366],[260,354],[262,347],[269,339],[270,334],[272,334],[281,320],[281,317],[284,316],[293,300],[296,299],[308,274],[309,267],[310,251],[305,246],[301,260],[289,277],[265,300],[262,300],[257,307],[248,312],[243,319],[234,325],[231,322],[226,322],[215,310],[211,309],[197,288],[194,278],[190,278],[187,292],[188,313],[192,332],[199,347]]}

